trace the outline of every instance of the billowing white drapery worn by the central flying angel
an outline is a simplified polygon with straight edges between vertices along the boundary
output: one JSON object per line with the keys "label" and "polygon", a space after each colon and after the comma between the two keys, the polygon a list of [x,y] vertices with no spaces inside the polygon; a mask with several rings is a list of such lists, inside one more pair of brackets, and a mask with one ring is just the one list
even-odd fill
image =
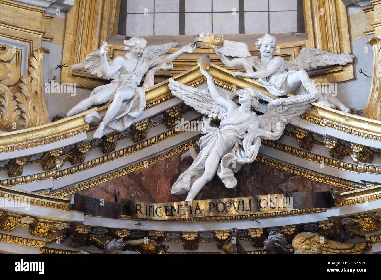
{"label": "billowing white drapery worn by the central flying angel", "polygon": [[[234,121],[221,120],[218,128],[211,126],[211,118],[204,116],[201,128],[206,135],[199,140],[201,151],[192,165],[173,184],[171,194],[185,194],[189,191],[193,182],[205,170],[205,162],[212,149],[216,149],[222,158],[217,170],[218,177],[227,188],[234,188],[237,185],[234,173],[238,172],[243,164],[255,160],[259,146],[261,146],[261,138],[275,140],[283,133],[284,127],[274,133],[258,129],[258,123],[255,128],[256,119],[257,116],[253,114],[249,119],[245,117]],[[253,142],[254,144],[252,144]],[[243,149],[237,143],[242,144]]]}

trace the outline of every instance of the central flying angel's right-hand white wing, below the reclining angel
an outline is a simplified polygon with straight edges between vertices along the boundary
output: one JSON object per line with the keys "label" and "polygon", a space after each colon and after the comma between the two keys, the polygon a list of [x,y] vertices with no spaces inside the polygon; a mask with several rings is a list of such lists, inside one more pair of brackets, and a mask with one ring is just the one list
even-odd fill
{"label": "central flying angel's right-hand white wing, below the reclining angel", "polygon": [[278,131],[292,118],[303,115],[316,99],[309,93],[272,100],[267,104],[266,112],[258,116],[259,127],[270,132]]}

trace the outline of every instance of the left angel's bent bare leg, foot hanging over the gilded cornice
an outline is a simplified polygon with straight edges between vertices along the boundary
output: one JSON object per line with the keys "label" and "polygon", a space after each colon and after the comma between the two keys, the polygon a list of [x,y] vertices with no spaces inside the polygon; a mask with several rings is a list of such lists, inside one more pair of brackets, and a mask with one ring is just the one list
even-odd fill
{"label": "left angel's bent bare leg, foot hanging over the gilded cornice", "polygon": [[133,98],[135,94],[135,89],[131,86],[123,86],[117,90],[115,93],[114,100],[110,103],[109,108],[107,109],[106,115],[104,116],[101,123],[99,123],[98,128],[94,132],[94,138],[101,138],[103,136],[103,130],[106,127],[107,123],[115,117],[115,115],[122,107],[122,102]]}

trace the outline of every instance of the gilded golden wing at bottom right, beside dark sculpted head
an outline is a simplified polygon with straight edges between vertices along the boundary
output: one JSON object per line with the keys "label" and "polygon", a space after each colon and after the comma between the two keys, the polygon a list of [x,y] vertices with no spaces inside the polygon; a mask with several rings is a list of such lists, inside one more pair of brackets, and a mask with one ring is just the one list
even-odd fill
{"label": "gilded golden wing at bottom right, beside dark sculpted head", "polygon": [[292,246],[295,254],[361,254],[367,243],[337,242],[314,232],[301,232],[295,235]]}

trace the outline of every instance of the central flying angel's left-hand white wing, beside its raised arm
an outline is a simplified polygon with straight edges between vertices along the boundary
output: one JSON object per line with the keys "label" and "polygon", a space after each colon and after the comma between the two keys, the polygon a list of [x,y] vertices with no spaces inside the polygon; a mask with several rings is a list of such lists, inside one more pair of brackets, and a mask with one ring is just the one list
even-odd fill
{"label": "central flying angel's left-hand white wing, beside its raised arm", "polygon": [[192,86],[169,79],[168,87],[172,94],[191,106],[197,112],[208,115],[208,117],[223,120],[227,115],[227,110],[211,98],[208,90],[198,90]]}

